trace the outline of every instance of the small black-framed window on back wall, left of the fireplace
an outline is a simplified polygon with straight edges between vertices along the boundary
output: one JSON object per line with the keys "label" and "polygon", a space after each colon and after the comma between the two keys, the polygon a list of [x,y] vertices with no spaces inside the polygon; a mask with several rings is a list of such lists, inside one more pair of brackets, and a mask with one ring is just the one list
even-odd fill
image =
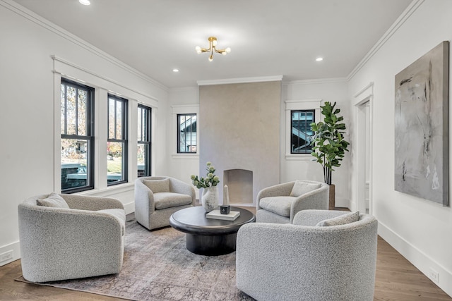
{"label": "small black-framed window on back wall, left of the fireplace", "polygon": [[177,152],[196,154],[196,114],[177,114]]}

